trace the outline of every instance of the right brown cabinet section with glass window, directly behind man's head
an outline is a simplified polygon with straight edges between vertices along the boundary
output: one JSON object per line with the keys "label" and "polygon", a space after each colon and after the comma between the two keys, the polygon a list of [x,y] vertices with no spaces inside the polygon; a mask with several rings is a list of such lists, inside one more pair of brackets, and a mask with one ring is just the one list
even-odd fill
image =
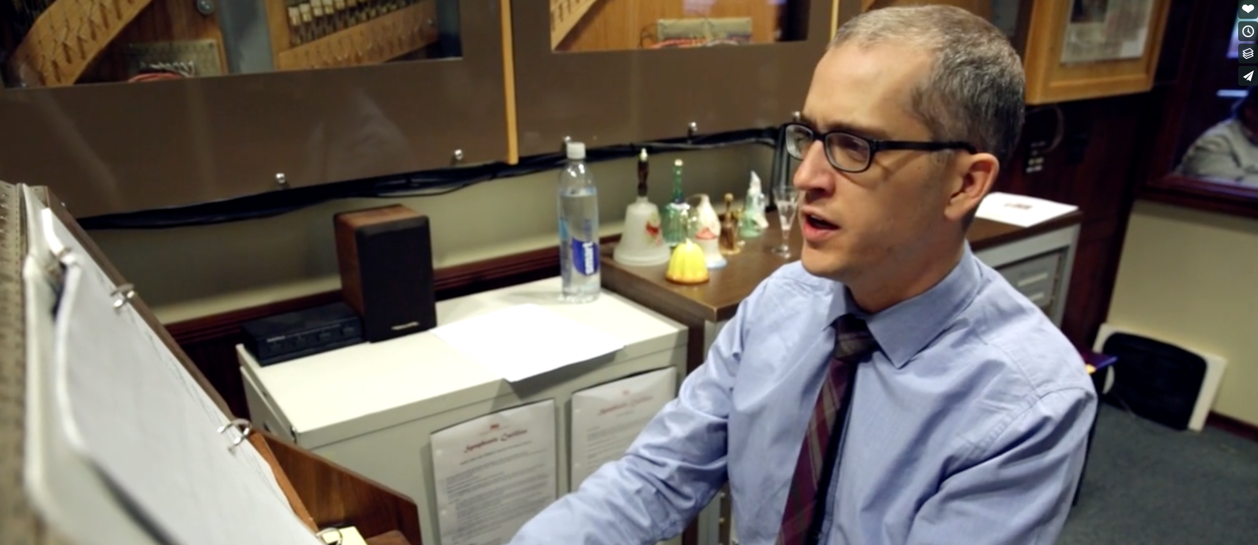
{"label": "right brown cabinet section with glass window, directly behind man's head", "polygon": [[[854,15],[859,0],[838,4]],[[512,11],[521,155],[771,127],[804,102],[832,0],[552,0]],[[844,16],[845,15],[845,16]]]}

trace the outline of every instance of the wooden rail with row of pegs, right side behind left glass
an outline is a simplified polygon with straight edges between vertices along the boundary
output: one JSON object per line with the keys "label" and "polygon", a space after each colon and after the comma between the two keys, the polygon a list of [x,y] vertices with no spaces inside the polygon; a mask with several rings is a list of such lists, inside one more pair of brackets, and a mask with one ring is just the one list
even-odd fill
{"label": "wooden rail with row of pegs, right side behind left glass", "polygon": [[437,1],[423,0],[366,23],[282,50],[276,68],[355,67],[380,64],[437,42]]}

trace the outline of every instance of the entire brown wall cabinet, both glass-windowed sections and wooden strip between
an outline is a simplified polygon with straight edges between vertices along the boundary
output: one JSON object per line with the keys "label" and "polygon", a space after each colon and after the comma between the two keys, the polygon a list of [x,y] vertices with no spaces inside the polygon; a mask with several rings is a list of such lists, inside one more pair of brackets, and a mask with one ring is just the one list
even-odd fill
{"label": "entire brown wall cabinet, both glass-windowed sections and wooden strip between", "polygon": [[15,5],[0,179],[84,218],[774,127],[860,0]]}

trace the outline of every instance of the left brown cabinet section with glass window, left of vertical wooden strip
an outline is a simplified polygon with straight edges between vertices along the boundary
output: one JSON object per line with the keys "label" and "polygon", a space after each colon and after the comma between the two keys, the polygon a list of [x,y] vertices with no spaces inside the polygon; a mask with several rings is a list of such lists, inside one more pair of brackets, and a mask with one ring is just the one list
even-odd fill
{"label": "left brown cabinet section with glass window, left of vertical wooden strip", "polygon": [[79,218],[511,152],[507,0],[23,4],[0,18],[0,179]]}

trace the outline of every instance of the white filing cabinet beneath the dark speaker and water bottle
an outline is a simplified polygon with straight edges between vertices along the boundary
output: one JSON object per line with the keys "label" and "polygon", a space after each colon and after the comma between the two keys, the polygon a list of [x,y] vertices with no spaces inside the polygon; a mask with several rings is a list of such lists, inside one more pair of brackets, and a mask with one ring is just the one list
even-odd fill
{"label": "white filing cabinet beneath the dark speaker and water bottle", "polygon": [[571,394],[662,368],[674,369],[681,384],[687,336],[682,325],[615,293],[604,291],[593,303],[566,305],[557,301],[559,289],[556,277],[442,301],[438,323],[535,303],[611,334],[625,347],[512,384],[431,331],[269,366],[259,366],[237,346],[254,425],[410,496],[419,506],[424,544],[440,545],[430,435],[497,410],[554,399],[557,496],[562,496],[569,491]]}

